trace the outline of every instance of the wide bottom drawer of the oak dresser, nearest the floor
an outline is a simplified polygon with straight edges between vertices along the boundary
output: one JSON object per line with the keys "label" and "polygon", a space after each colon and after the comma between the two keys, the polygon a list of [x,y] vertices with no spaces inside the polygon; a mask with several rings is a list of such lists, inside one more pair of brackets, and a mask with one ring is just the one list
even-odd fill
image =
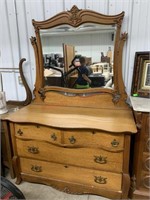
{"label": "wide bottom drawer of the oak dresser, nearest the floor", "polygon": [[122,175],[98,170],[90,170],[45,161],[20,158],[21,172],[49,179],[58,179],[93,187],[120,191]]}

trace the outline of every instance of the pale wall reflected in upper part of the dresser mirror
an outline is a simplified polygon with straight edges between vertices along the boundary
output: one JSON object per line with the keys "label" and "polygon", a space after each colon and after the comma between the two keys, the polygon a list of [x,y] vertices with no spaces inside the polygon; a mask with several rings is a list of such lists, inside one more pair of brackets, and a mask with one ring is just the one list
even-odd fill
{"label": "pale wall reflected in upper part of the dresser mirror", "polygon": [[101,52],[107,55],[109,47],[114,51],[114,41],[112,33],[102,32],[95,34],[71,34],[71,35],[54,35],[42,37],[43,54],[61,54],[63,56],[63,45],[73,45],[75,53],[78,55],[90,57],[93,62],[101,61]]}

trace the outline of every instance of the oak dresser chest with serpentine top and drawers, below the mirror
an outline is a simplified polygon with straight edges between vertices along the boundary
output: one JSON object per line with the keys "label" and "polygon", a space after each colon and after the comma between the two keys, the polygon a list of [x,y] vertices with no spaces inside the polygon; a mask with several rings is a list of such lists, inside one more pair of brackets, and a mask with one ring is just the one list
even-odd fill
{"label": "oak dresser chest with serpentine top and drawers, below the mirror", "polygon": [[130,109],[30,104],[9,120],[17,184],[127,197],[130,134],[136,132]]}

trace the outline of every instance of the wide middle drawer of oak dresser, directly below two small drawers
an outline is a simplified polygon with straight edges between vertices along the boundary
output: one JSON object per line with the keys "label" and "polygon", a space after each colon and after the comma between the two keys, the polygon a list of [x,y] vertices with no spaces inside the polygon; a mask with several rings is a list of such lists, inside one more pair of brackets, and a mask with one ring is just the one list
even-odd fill
{"label": "wide middle drawer of oak dresser, directly below two small drawers", "polygon": [[18,155],[85,168],[122,172],[123,152],[91,148],[63,148],[39,141],[16,140]]}

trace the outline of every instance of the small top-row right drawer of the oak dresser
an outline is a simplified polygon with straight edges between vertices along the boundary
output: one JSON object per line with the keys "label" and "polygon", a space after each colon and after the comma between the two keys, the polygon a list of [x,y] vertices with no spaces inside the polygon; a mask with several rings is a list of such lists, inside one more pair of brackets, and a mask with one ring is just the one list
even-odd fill
{"label": "small top-row right drawer of the oak dresser", "polygon": [[123,150],[124,135],[104,132],[65,131],[63,142],[68,146],[84,146],[109,150]]}

